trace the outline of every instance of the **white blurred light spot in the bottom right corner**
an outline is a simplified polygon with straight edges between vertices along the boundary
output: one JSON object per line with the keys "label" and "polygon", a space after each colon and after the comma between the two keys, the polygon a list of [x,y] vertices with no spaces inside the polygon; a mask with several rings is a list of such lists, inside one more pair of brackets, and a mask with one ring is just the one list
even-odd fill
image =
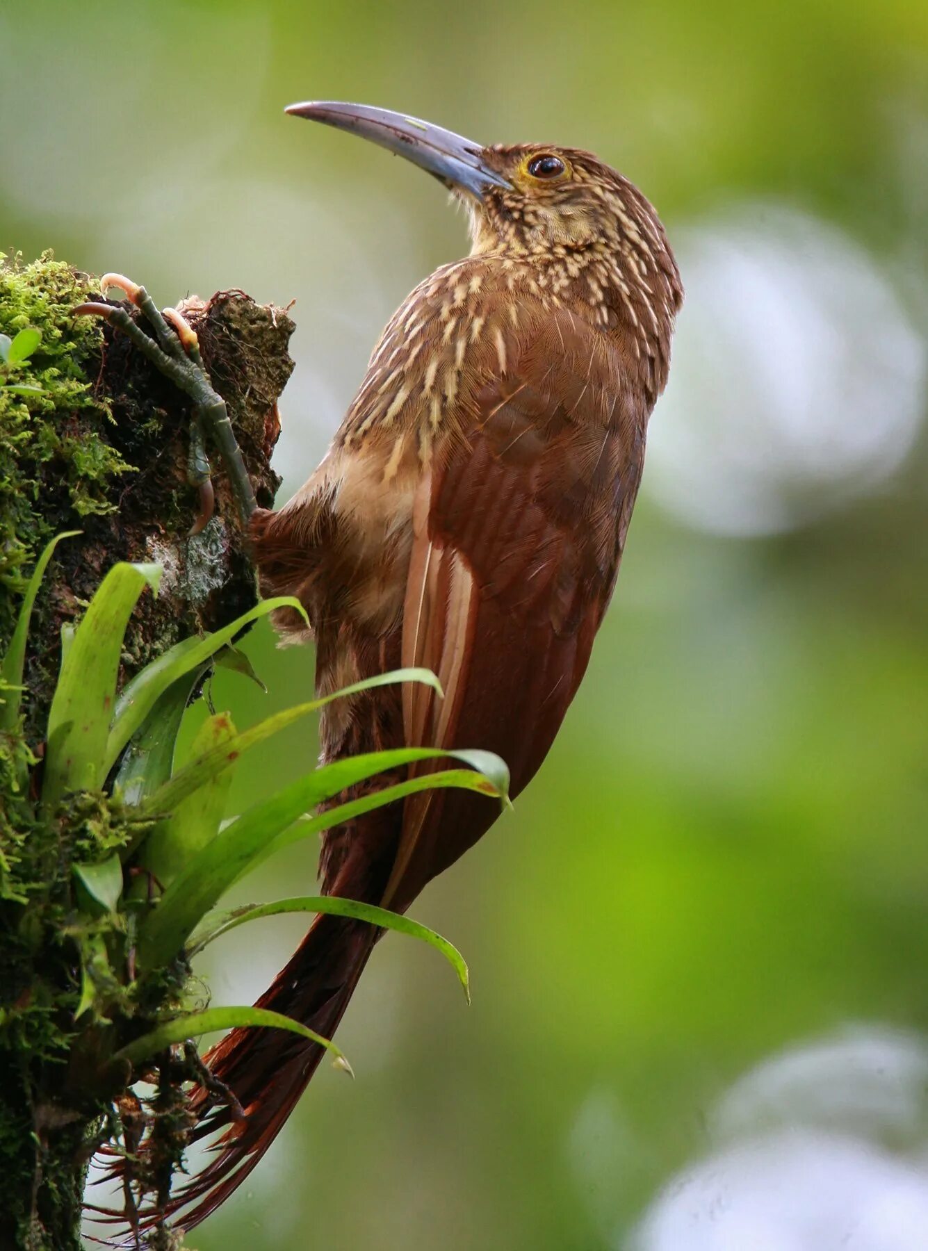
{"label": "white blurred light spot in the bottom right corner", "polygon": [[788,1047],[708,1118],[715,1150],[617,1251],[928,1247],[928,1047],[885,1026]]}

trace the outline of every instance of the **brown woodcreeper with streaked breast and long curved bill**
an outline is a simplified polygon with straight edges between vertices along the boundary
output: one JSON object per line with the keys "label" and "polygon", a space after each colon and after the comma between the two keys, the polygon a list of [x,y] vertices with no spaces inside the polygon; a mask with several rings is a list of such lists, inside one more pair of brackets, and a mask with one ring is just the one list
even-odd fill
{"label": "brown woodcreeper with streaked breast and long curved bill", "polygon": [[[285,641],[314,641],[320,696],[399,667],[440,681],[443,698],[408,683],[325,707],[323,762],[479,747],[507,762],[515,797],[552,747],[613,594],[683,301],[673,251],[642,191],[589,151],[482,146],[340,101],[286,113],[430,173],[464,205],[470,250],[393,315],[305,485],[254,512],[261,590],[305,608],[309,627],[293,609],[276,623]],[[404,912],[498,812],[475,793],[424,791],[336,824],[321,888]],[[318,917],[258,1006],[331,1037],[380,933]],[[171,1200],[184,1228],[248,1176],[323,1053],[266,1028],[235,1030],[208,1053],[193,1138],[221,1136]]]}

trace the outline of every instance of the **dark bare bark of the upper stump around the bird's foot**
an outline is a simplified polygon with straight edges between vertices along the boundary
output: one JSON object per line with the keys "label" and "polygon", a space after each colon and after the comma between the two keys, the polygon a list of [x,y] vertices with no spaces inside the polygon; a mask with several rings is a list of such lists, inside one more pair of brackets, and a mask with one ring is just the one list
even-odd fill
{"label": "dark bare bark of the upper stump around the bird's foot", "polygon": [[[226,402],[258,502],[270,507],[280,480],[270,468],[270,453],[279,433],[276,400],[293,369],[286,350],[293,323],[283,310],[258,305],[243,291],[220,291],[205,304],[191,299],[179,306],[196,330],[204,362]],[[114,509],[85,517],[74,514],[66,483],[55,480],[54,463],[43,474],[36,510],[48,529],[84,533],[59,547],[54,583],[38,605],[26,673],[30,728],[41,724],[48,712],[61,626],[80,614],[114,562],[153,560],[164,567],[161,593],[158,599],[144,598],[126,639],[128,676],[179,639],[216,629],[256,600],[248,538],[213,449],[216,512],[201,534],[188,535],[199,509],[196,492],[186,482],[188,398],[109,327],[101,332],[99,359],[86,368],[113,422],[101,425],[75,414],[73,434],[84,442],[105,440],[130,469],[108,488]]]}

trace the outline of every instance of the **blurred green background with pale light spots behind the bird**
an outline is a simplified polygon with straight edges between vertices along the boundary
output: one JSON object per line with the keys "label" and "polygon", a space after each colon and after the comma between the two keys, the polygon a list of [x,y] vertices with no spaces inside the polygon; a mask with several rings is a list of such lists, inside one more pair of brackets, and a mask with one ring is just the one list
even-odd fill
{"label": "blurred green background with pale light spots behind the bird", "polygon": [[[163,303],[296,299],[278,467],[464,250],[429,179],[284,118],[348,99],[592,148],[688,301],[615,600],[539,778],[378,948],[200,1251],[928,1246],[928,11],[922,0],[0,8],[0,246]],[[310,649],[214,683],[239,724]],[[474,744],[479,746],[479,744]],[[300,728],[233,811],[311,764]],[[309,892],[315,847],[240,897]],[[259,928],[260,927],[260,928]],[[244,1002],[300,933],[225,940]]]}

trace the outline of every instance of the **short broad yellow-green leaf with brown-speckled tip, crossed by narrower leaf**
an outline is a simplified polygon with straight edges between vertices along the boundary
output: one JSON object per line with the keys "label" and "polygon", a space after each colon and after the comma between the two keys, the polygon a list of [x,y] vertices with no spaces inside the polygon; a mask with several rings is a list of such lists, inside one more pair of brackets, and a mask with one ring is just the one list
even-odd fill
{"label": "short broad yellow-green leaf with brown-speckled tip, crossed by narrower leaf", "polygon": [[[193,751],[203,752],[215,743],[228,742],[234,734],[235,726],[229,713],[216,713],[200,727]],[[210,778],[179,803],[170,818],[159,822],[145,838],[139,862],[163,886],[170,886],[184,864],[219,833],[231,779],[231,769]]]}

